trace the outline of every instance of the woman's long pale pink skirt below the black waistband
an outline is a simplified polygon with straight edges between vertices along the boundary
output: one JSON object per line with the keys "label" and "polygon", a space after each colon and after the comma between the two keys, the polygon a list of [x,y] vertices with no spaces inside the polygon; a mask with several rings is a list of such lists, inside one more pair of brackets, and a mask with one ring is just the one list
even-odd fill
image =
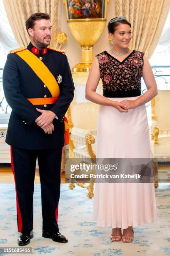
{"label": "woman's long pale pink skirt below the black waistband", "polygon": [[[138,96],[139,97],[139,96]],[[109,98],[114,101],[138,97]],[[97,158],[150,158],[145,105],[120,113],[100,106],[97,123]],[[95,184],[93,219],[99,226],[137,227],[157,220],[154,184]]]}

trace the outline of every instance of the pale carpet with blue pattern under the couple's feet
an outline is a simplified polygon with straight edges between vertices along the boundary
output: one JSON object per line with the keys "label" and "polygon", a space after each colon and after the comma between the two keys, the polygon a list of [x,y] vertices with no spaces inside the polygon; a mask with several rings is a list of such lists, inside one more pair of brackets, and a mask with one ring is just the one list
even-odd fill
{"label": "pale carpet with blue pattern under the couple's feet", "polygon": [[[74,256],[143,256],[170,255],[170,184],[160,184],[156,189],[158,222],[134,228],[133,243],[110,242],[111,228],[101,228],[92,221],[92,203],[87,190],[81,187],[68,189],[61,185],[59,227],[69,242],[55,243],[42,238],[40,184],[34,193],[34,238],[30,247],[34,255]],[[0,184],[0,247],[17,247],[17,221],[15,187]],[[5,255],[5,254],[1,254]],[[8,254],[10,255],[10,254]],[[14,255],[14,254],[11,254]],[[21,253],[20,255],[24,255]]]}

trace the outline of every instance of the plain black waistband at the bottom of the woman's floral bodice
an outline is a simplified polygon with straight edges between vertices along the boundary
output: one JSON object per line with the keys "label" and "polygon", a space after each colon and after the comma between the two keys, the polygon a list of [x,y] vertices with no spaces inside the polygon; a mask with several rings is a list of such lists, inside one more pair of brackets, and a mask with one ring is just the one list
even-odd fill
{"label": "plain black waistband at the bottom of the woman's floral bodice", "polygon": [[103,90],[103,96],[105,96],[107,98],[124,98],[124,97],[135,97],[135,96],[140,96],[140,95],[141,95],[140,89],[127,90],[127,91],[117,90],[116,92]]}

